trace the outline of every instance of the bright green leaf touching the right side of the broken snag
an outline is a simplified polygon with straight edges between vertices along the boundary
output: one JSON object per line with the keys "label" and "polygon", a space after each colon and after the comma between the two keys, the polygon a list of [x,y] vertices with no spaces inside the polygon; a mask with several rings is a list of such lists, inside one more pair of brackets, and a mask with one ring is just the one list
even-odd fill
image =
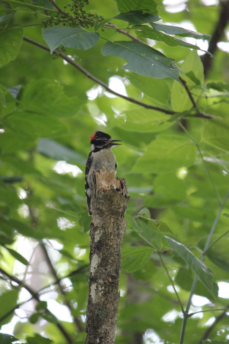
{"label": "bright green leaf touching the right side of the broken snag", "polygon": [[144,267],[150,260],[153,249],[151,247],[124,247],[122,249],[122,269],[135,272]]}

